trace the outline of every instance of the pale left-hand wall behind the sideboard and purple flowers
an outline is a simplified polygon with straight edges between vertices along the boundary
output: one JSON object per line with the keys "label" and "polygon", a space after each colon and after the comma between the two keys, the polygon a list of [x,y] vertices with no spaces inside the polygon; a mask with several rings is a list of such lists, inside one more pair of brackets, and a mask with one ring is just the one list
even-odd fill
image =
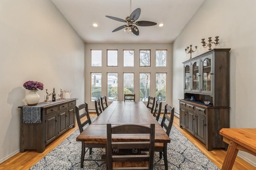
{"label": "pale left-hand wall behind the sideboard and purple flowers", "polygon": [[0,163],[19,152],[28,80],[84,102],[84,42],[50,0],[0,1]]}

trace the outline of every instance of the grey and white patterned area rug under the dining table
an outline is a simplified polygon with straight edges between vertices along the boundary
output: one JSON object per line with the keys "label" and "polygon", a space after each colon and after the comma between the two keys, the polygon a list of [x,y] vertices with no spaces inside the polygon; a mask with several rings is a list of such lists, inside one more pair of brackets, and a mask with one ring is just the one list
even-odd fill
{"label": "grey and white patterned area rug under the dining table", "polygon": [[[95,117],[92,117],[92,121]],[[76,142],[80,134],[76,130],[55,149],[37,162],[30,170],[106,170],[105,161],[84,161],[84,168],[80,168],[81,142]],[[170,132],[171,143],[168,143],[168,169],[170,170],[218,170],[200,150],[198,150],[174,126]],[[90,156],[87,152],[85,158],[100,158],[105,149],[93,149]],[[159,153],[155,152],[154,162],[163,164]],[[154,166],[154,170],[164,170],[164,166]]]}

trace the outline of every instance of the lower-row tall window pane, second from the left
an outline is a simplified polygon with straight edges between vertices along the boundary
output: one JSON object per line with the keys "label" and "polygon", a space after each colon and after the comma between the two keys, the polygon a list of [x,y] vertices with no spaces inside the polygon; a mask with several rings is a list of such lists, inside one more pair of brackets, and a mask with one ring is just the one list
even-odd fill
{"label": "lower-row tall window pane, second from the left", "polygon": [[117,101],[117,73],[108,73],[108,101]]}

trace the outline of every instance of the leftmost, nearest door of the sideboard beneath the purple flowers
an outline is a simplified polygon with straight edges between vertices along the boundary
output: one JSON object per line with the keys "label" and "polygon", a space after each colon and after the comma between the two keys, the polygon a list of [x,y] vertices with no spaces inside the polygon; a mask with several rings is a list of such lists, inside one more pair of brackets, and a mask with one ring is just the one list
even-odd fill
{"label": "leftmost, nearest door of the sideboard beneath the purple flowers", "polygon": [[46,145],[57,137],[57,113],[46,117]]}

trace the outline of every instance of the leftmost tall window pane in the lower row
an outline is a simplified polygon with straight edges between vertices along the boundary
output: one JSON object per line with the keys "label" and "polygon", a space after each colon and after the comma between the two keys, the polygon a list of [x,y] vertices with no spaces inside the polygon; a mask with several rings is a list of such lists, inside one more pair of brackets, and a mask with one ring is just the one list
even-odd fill
{"label": "leftmost tall window pane in the lower row", "polygon": [[91,101],[101,96],[101,73],[91,73]]}

